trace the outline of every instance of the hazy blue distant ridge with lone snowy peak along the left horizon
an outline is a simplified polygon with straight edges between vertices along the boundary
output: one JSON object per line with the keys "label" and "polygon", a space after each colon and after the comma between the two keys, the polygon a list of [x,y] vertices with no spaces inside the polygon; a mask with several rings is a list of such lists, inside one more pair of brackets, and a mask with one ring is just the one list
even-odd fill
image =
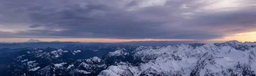
{"label": "hazy blue distant ridge with lone snowy peak along the left horizon", "polygon": [[60,41],[52,41],[52,42],[44,42],[38,39],[29,39],[25,42],[0,42],[0,48],[44,48],[44,47],[52,47],[52,48],[62,48],[67,45],[133,45],[133,46],[168,46],[168,45],[181,45],[181,44],[190,44],[195,43],[184,42],[184,41],[139,41],[139,42],[119,42],[119,43],[101,43],[101,42],[60,42]]}

